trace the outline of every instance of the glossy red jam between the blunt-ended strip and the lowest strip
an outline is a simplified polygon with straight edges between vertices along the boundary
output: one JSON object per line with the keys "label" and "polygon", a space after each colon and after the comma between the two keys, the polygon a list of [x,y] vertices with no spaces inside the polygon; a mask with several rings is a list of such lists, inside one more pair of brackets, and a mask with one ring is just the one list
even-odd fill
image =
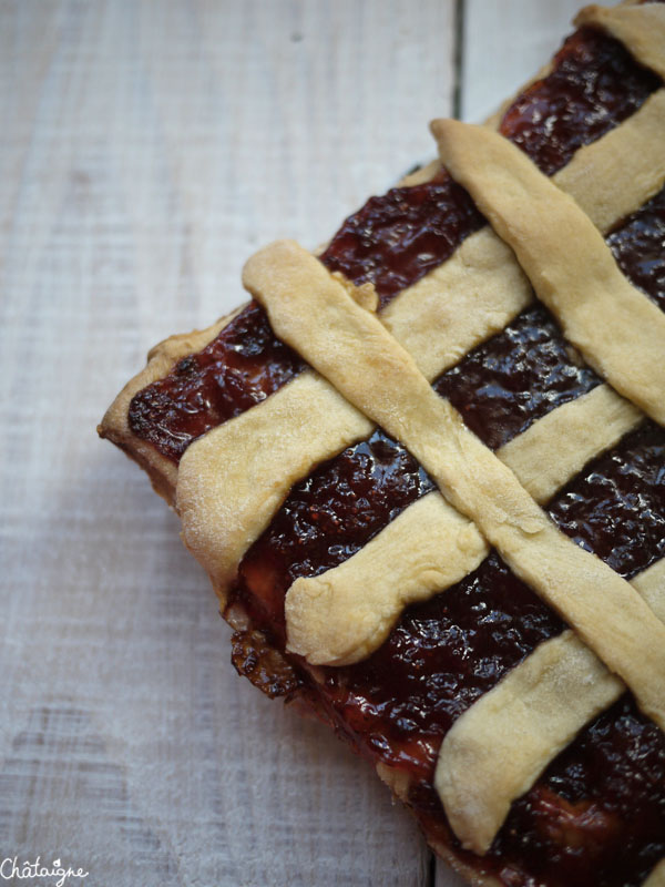
{"label": "glossy red jam between the blunt-ended strip and the lowest strip", "polygon": [[563,623],[492,553],[409,608],[377,652],[328,669],[325,694],[366,754],[431,779],[457,717]]}

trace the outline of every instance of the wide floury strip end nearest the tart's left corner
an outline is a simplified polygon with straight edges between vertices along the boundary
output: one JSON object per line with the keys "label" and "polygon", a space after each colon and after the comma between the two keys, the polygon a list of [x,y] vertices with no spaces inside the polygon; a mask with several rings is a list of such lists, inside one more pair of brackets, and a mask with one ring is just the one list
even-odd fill
{"label": "wide floury strip end nearest the tart's left corner", "polygon": [[222,598],[238,558],[290,487],[317,461],[367,437],[371,428],[332,386],[309,371],[185,450],[177,479],[183,539]]}

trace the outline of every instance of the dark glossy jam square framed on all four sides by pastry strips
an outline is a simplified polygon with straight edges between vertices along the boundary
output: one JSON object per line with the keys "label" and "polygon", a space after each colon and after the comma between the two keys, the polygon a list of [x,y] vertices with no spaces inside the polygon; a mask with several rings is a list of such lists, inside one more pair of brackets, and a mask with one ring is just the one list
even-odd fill
{"label": "dark glossy jam square framed on all four sides by pastry strips", "polygon": [[492,449],[600,384],[548,310],[534,305],[474,348],[433,387]]}

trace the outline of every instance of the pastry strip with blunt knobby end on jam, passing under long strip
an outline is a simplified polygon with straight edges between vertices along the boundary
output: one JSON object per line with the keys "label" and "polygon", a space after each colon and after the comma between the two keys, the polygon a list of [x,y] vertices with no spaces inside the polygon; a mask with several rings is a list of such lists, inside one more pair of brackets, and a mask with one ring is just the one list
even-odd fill
{"label": "pastry strip with blunt knobby end on jam, passing under long strip", "polygon": [[[643,419],[601,385],[535,421],[497,451],[538,502]],[[286,594],[288,649],[311,664],[359,662],[386,640],[409,603],[474,570],[488,553],[473,524],[438,492],[409,506],[356,554]]]}

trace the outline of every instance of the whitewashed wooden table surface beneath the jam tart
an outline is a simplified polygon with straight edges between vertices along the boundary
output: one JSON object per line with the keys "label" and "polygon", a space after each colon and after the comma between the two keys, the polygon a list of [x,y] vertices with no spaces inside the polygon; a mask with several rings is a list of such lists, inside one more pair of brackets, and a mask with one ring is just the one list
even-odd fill
{"label": "whitewashed wooden table surface beneath the jam tart", "polygon": [[177,520],[94,429],[151,345],[243,300],[252,252],[325,241],[575,7],[1,0],[0,861],[89,871],[68,887],[459,884],[369,767],[236,676]]}

